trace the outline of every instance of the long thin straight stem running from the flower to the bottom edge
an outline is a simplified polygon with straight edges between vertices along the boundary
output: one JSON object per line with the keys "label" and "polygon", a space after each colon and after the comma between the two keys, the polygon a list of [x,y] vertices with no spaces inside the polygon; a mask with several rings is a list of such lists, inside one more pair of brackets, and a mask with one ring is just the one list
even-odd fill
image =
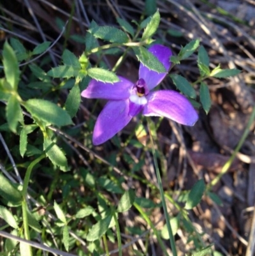
{"label": "long thin straight stem running from the flower to the bottom edge", "polygon": [[[152,122],[149,118],[147,119],[147,121],[148,121],[148,124],[150,124],[150,122]],[[161,181],[159,167],[157,165],[156,151],[155,151],[154,142],[153,142],[153,138],[152,138],[152,132],[150,130],[150,125],[148,125],[148,129],[149,129],[149,134],[150,134],[150,142],[152,144],[152,154],[153,154],[153,160],[154,160],[154,165],[155,165],[155,169],[156,169],[157,182],[159,183],[159,192],[160,192],[162,205],[163,205],[163,209],[164,209],[164,217],[166,218],[166,227],[168,229],[169,238],[170,238],[171,250],[173,252],[173,256],[177,256],[177,250],[175,247],[175,239],[173,237],[173,231],[171,230],[170,218],[168,216],[168,210],[166,207],[166,200],[164,199],[163,185],[162,185],[162,181]],[[153,131],[153,132],[156,132],[156,131]]]}

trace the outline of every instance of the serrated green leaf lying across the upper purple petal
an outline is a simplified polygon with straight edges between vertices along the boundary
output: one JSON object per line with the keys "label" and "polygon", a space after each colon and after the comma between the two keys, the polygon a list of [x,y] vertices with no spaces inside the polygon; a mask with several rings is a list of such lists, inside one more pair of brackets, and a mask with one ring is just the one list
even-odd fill
{"label": "serrated green leaf lying across the upper purple petal", "polygon": [[149,50],[145,49],[144,47],[133,47],[133,50],[138,60],[150,70],[154,70],[159,73],[167,72],[164,65],[157,59],[157,57],[149,52]]}

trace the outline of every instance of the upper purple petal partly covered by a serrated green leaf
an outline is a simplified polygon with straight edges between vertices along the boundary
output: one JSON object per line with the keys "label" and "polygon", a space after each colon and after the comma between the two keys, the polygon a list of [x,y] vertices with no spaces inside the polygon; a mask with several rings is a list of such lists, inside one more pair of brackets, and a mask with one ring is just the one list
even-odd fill
{"label": "upper purple petal partly covered by a serrated green leaf", "polygon": [[166,68],[166,73],[158,73],[156,71],[149,70],[149,68],[140,63],[139,78],[144,79],[147,86],[151,90],[156,87],[166,76],[171,66],[170,57],[172,53],[171,50],[164,45],[152,45],[152,47],[149,48],[149,52],[156,56],[157,59],[164,65],[164,68]]}

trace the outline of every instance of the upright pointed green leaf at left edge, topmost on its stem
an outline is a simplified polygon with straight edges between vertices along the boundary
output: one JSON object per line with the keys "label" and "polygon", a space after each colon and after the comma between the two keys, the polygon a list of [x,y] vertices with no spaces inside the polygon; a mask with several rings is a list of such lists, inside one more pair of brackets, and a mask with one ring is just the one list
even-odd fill
{"label": "upright pointed green leaf at left edge, topmost on its stem", "polygon": [[3,65],[7,82],[11,85],[12,89],[17,91],[20,70],[18,69],[18,60],[15,52],[7,41],[4,43]]}

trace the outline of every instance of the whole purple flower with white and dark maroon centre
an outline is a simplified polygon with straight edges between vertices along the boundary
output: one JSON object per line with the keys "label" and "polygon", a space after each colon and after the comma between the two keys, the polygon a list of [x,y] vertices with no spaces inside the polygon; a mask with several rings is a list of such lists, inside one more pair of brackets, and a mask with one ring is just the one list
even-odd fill
{"label": "whole purple flower with white and dark maroon centre", "polygon": [[[168,71],[171,50],[163,45],[153,45],[149,51]],[[82,91],[82,96],[109,100],[96,121],[93,144],[99,145],[112,138],[140,112],[144,116],[164,116],[190,126],[196,123],[198,114],[182,94],[170,90],[150,91],[166,74],[149,70],[140,63],[139,79],[135,84],[123,77],[114,84],[92,79],[87,89]]]}

